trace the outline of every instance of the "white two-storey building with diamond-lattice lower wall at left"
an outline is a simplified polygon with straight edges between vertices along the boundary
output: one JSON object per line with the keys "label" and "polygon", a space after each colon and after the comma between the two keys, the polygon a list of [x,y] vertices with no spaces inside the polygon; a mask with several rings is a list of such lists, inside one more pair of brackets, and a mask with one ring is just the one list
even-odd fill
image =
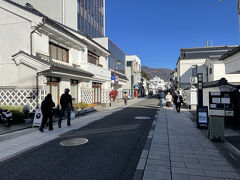
{"label": "white two-storey building with diamond-lattice lower wall at left", "polygon": [[[65,88],[76,102],[108,103],[109,51],[36,9],[0,1],[0,95],[8,105],[36,107]],[[39,94],[39,95],[37,95]]]}

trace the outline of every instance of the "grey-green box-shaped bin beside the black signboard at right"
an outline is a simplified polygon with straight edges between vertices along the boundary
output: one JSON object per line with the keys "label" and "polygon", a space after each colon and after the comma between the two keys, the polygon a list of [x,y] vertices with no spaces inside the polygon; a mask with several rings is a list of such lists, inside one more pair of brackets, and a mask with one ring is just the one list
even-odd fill
{"label": "grey-green box-shaped bin beside the black signboard at right", "polygon": [[223,141],[224,138],[224,117],[210,116],[208,123],[208,138]]}

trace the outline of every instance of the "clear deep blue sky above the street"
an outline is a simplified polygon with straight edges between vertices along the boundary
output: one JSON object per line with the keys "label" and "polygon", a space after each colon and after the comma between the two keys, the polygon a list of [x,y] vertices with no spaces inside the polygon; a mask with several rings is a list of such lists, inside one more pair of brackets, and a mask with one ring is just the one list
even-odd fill
{"label": "clear deep blue sky above the street", "polygon": [[240,43],[237,0],[106,0],[106,36],[142,65],[174,69],[180,48]]}

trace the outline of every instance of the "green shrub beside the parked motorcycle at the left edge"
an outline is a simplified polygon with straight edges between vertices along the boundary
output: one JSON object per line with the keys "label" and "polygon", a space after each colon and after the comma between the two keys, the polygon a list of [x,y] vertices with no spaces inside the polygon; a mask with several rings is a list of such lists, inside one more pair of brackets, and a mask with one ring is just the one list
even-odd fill
{"label": "green shrub beside the parked motorcycle at the left edge", "polygon": [[12,113],[13,123],[22,123],[24,121],[23,108],[21,106],[0,106],[2,109],[7,109]]}

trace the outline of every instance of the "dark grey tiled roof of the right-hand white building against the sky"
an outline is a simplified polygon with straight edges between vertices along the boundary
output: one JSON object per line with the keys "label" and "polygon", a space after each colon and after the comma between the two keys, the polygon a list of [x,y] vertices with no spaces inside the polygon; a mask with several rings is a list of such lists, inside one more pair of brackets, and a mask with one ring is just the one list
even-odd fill
{"label": "dark grey tiled roof of the right-hand white building against the sky", "polygon": [[219,59],[237,46],[214,46],[200,48],[183,48],[180,50],[179,59]]}

